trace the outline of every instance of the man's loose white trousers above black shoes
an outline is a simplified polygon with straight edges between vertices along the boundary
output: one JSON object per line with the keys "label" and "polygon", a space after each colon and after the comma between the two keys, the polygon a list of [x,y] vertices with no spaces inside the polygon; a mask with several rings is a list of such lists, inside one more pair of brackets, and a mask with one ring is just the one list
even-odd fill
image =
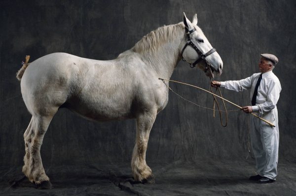
{"label": "man's loose white trousers above black shoes", "polygon": [[251,129],[251,145],[256,160],[256,170],[261,176],[272,180],[277,176],[279,127],[278,114],[275,107],[272,111],[260,115],[260,117],[273,123],[271,127],[259,118],[253,118],[254,128]]}

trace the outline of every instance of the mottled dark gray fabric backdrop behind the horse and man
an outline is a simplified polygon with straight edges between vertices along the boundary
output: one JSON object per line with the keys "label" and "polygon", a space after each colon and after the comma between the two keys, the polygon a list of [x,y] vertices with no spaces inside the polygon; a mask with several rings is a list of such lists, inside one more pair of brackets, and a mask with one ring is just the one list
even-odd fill
{"label": "mottled dark gray fabric backdrop behind the horse and man", "polygon": [[[151,30],[182,21],[182,12],[198,25],[222,57],[216,80],[238,80],[258,72],[260,53],[279,58],[274,69],[282,84],[278,102],[279,159],[295,161],[296,1],[294,0],[2,0],[0,2],[0,165],[23,164],[23,133],[31,119],[15,73],[30,61],[54,52],[113,59]],[[172,76],[209,88],[201,70],[180,62]],[[114,79],[116,80],[116,79]],[[212,107],[205,92],[170,84],[186,98]],[[238,105],[249,105],[249,91],[222,89]],[[228,110],[236,109],[226,104]],[[216,114],[218,115],[218,114]],[[59,165],[128,163],[135,141],[135,120],[91,122],[66,109],[53,118],[43,140],[44,168]],[[223,128],[212,111],[199,109],[174,94],[160,112],[148,143],[147,162],[216,159],[236,161],[247,155],[248,115],[229,112]]]}

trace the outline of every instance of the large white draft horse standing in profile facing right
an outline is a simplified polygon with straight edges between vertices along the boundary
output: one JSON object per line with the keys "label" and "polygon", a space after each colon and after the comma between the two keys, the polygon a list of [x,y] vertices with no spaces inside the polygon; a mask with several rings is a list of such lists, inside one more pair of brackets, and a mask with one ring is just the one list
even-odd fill
{"label": "large white draft horse standing in profile facing right", "polygon": [[[193,45],[187,44],[189,41]],[[183,13],[183,22],[151,31],[116,59],[54,53],[22,67],[17,78],[32,114],[24,133],[24,174],[39,188],[52,188],[42,166],[40,147],[51,119],[63,107],[96,121],[136,118],[132,173],[136,181],[153,183],[146,164],[149,133],[157,113],[168,103],[168,88],[158,78],[170,79],[182,57],[189,63],[202,57],[197,65],[207,76],[214,77],[213,71],[221,74],[222,59],[211,49],[197,27],[196,14],[191,23]],[[208,51],[211,54],[205,56]]]}

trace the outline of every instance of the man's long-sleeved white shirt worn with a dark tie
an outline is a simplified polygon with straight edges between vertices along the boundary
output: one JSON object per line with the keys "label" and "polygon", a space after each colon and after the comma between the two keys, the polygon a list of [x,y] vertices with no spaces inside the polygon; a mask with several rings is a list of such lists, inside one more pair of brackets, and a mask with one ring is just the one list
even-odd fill
{"label": "man's long-sleeved white shirt worn with a dark tie", "polygon": [[[253,74],[252,76],[239,81],[221,82],[221,87],[237,92],[251,88],[250,101],[252,101],[254,89],[261,73]],[[259,113],[269,112],[276,107],[282,90],[279,79],[272,71],[262,74],[262,80],[258,87],[256,106],[252,106],[253,111]]]}

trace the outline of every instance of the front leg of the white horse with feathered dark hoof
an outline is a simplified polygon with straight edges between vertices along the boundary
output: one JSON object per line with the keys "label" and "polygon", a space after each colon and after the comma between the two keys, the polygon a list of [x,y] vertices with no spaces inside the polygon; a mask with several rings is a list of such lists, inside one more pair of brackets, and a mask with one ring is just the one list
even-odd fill
{"label": "front leg of the white horse with feathered dark hoof", "polygon": [[146,150],[156,114],[156,110],[145,110],[137,116],[137,137],[131,165],[134,179],[142,183],[154,183],[152,171],[146,164]]}

